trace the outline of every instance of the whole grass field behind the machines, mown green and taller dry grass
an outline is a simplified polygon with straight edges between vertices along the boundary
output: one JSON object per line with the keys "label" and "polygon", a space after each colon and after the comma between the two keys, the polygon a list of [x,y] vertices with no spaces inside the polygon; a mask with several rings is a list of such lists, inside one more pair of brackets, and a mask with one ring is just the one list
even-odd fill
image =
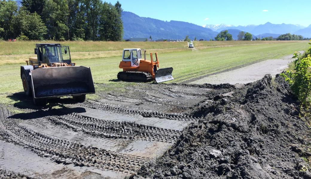
{"label": "whole grass field behind the machines, mown green and taller dry grass", "polygon": [[[16,101],[7,98],[7,96],[23,91],[20,65],[25,63],[24,61],[28,57],[34,56],[31,53],[33,53],[35,43],[0,42],[0,103],[13,104]],[[295,51],[305,50],[308,47],[307,41],[195,42],[194,46],[197,48],[195,50],[188,49],[187,43],[184,42],[66,42],[65,44],[71,46],[73,62],[76,62],[77,65],[91,67],[96,91],[109,91],[135,85],[135,83],[115,80],[117,73],[121,71],[118,65],[123,48],[141,47],[147,49],[147,52],[160,51],[160,68],[174,68],[175,80],[167,83],[182,83],[225,69],[236,68],[261,60],[280,58]],[[78,58],[75,58],[76,55]],[[23,60],[16,60],[16,56],[19,56],[18,58],[22,56]],[[146,56],[148,59],[148,55]],[[4,58],[5,62],[3,62]],[[105,85],[99,88],[96,84]],[[94,98],[96,95],[88,97]]]}

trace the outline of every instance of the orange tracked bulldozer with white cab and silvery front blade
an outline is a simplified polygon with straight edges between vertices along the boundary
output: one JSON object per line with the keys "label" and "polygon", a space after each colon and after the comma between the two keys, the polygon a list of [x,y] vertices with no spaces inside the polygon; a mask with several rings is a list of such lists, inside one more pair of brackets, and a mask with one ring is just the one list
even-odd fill
{"label": "orange tracked bulldozer with white cab and silvery front blade", "polygon": [[[142,59],[142,51],[144,52],[144,59]],[[159,69],[158,54],[155,53],[155,55],[155,60],[152,53],[150,53],[150,60],[146,60],[146,50],[144,49],[123,49],[122,61],[119,64],[119,68],[123,71],[118,73],[118,79],[142,82],[155,80],[157,83],[173,80],[173,68]]]}

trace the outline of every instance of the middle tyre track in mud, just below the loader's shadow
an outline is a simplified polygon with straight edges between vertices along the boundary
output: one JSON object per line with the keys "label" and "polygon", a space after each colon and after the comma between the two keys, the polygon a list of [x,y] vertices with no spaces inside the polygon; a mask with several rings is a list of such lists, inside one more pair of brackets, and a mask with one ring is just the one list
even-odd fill
{"label": "middle tyre track in mud, just below the loader's shadow", "polygon": [[178,130],[146,126],[135,122],[96,119],[77,113],[50,116],[48,119],[74,131],[82,131],[92,136],[105,138],[141,139],[172,143],[181,135],[181,131]]}

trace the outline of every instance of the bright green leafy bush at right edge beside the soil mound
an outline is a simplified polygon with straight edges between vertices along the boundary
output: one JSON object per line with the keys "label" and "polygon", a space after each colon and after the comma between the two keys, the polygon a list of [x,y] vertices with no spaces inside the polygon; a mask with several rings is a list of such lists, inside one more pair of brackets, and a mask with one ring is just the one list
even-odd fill
{"label": "bright green leafy bush at right edge beside the soil mound", "polygon": [[[311,45],[311,42],[309,43]],[[295,52],[295,69],[281,75],[289,82],[291,90],[298,97],[304,107],[311,103],[311,47],[303,55]]]}

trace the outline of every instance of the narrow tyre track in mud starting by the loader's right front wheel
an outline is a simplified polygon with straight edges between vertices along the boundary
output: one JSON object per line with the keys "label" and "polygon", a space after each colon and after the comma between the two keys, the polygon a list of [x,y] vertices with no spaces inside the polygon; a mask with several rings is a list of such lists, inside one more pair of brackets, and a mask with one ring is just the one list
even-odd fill
{"label": "narrow tyre track in mud starting by the loader's right front wheel", "polygon": [[88,107],[96,110],[104,110],[114,113],[128,114],[128,115],[142,115],[143,117],[157,117],[165,118],[170,120],[180,120],[180,121],[198,121],[200,118],[189,116],[181,113],[166,114],[160,111],[146,110],[143,108],[132,108],[132,107],[121,107],[120,105],[103,104],[97,101],[86,101],[80,103],[80,106]]}

